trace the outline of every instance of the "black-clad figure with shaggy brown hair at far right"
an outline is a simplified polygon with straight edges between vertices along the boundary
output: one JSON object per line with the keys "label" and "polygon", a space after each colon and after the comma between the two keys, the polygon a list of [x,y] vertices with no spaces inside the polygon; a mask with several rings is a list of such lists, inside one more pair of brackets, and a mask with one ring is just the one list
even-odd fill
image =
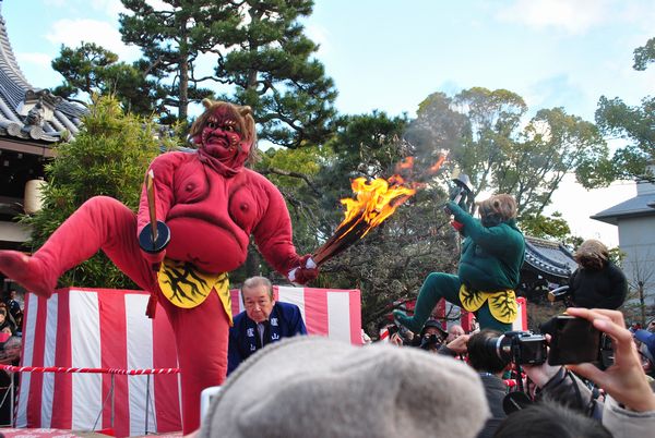
{"label": "black-clad figure with shaggy brown hair at far right", "polygon": [[602,242],[590,239],[574,254],[579,268],[569,279],[569,294],[575,307],[617,309],[628,294],[626,276],[609,259]]}

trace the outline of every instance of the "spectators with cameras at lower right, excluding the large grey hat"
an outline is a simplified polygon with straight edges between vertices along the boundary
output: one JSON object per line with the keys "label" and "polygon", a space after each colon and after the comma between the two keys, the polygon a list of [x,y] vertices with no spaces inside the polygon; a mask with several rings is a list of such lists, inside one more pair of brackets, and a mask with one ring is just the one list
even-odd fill
{"label": "spectators with cameras at lower right, excluding the large grey hat", "polygon": [[[490,348],[502,333],[489,329],[464,333],[457,325],[440,337],[442,342],[437,348],[429,349],[458,357],[478,373],[490,413],[477,437],[600,438],[655,434],[655,319],[644,329],[634,329],[627,328],[618,311],[569,308],[567,313],[593,321],[594,327],[609,336],[614,364],[606,369],[600,363],[551,366],[545,362],[517,367]],[[428,320],[419,338],[439,325]],[[546,337],[549,341],[550,337]],[[389,342],[420,345],[412,332],[394,331]],[[525,388],[521,398],[510,396],[516,394],[516,379]]]}

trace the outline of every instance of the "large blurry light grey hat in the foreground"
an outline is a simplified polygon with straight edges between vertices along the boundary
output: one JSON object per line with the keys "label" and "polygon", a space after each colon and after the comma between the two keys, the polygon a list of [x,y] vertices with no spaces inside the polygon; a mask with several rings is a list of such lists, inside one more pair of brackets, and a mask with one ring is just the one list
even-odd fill
{"label": "large blurry light grey hat in the foreground", "polygon": [[488,415],[479,376],[460,361],[294,337],[227,378],[198,437],[474,438]]}

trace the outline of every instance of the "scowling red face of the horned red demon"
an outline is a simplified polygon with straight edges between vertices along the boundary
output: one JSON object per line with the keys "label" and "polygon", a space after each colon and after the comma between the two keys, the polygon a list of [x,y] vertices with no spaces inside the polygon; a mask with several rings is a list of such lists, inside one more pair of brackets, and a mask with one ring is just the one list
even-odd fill
{"label": "scowling red face of the horned red demon", "polygon": [[227,107],[210,109],[212,113],[205,121],[194,142],[201,149],[230,169],[243,166],[250,154],[251,144],[243,138],[240,123]]}

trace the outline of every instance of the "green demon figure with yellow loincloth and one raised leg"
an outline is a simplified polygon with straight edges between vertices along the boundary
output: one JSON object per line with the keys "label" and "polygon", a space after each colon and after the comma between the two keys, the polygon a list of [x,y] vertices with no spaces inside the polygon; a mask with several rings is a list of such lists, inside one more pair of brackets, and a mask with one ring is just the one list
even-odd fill
{"label": "green demon figure with yellow loincloth and one raised leg", "polygon": [[479,203],[479,220],[454,202],[446,208],[454,217],[453,226],[465,238],[457,275],[430,273],[418,293],[414,316],[394,311],[394,317],[418,332],[444,297],[475,313],[483,329],[511,330],[517,316],[514,288],[525,253],[525,241],[515,221],[516,200],[505,194],[491,196]]}

